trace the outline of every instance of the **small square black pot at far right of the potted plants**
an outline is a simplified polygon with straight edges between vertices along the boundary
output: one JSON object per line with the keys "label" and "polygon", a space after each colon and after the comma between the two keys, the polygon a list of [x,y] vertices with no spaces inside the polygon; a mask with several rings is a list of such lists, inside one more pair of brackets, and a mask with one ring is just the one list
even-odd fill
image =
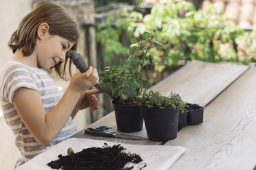
{"label": "small square black pot at far right of the potted plants", "polygon": [[[192,104],[188,104],[188,105],[192,105]],[[204,108],[205,107],[197,106],[192,110],[187,110],[187,117],[186,117],[187,125],[197,125],[198,123],[203,123]]]}

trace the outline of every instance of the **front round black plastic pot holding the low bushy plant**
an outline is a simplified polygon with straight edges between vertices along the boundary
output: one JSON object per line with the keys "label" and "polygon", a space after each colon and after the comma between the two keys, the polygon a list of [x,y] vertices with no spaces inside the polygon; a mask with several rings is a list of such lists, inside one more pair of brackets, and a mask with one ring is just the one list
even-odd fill
{"label": "front round black plastic pot holding the low bushy plant", "polygon": [[140,112],[143,114],[149,140],[169,141],[177,137],[178,110],[140,108]]}

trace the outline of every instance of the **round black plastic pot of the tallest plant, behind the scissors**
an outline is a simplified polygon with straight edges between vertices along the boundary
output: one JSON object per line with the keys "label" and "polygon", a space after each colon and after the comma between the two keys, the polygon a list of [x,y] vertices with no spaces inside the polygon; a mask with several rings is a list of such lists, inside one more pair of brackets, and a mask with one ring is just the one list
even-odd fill
{"label": "round black plastic pot of the tallest plant, behind the scissors", "polygon": [[120,132],[138,132],[143,127],[143,117],[138,105],[113,104],[116,125]]}

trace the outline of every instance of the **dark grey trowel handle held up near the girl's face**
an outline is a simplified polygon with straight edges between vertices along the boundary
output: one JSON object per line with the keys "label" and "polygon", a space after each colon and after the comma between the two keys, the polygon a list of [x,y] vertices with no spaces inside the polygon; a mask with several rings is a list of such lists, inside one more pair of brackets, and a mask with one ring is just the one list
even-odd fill
{"label": "dark grey trowel handle held up near the girl's face", "polygon": [[79,53],[77,53],[76,51],[74,51],[74,50],[68,51],[67,56],[70,58],[70,60],[72,60],[72,62],[76,66],[76,68],[81,73],[84,73],[85,71],[87,71],[89,69],[88,66],[85,64],[85,61],[83,60],[83,57]]}

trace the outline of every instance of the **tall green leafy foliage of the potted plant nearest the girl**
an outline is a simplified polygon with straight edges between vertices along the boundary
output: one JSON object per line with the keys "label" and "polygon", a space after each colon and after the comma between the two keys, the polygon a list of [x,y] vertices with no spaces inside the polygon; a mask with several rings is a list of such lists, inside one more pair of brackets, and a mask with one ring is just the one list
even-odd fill
{"label": "tall green leafy foliage of the potted plant nearest the girl", "polygon": [[[153,41],[158,45],[160,42]],[[152,43],[150,34],[144,32],[141,40],[131,38],[129,58],[116,66],[105,66],[99,74],[100,82],[104,82],[112,90],[111,98],[115,104],[138,104],[138,98],[148,87],[148,82],[142,80],[142,68],[151,63],[148,43]]]}

